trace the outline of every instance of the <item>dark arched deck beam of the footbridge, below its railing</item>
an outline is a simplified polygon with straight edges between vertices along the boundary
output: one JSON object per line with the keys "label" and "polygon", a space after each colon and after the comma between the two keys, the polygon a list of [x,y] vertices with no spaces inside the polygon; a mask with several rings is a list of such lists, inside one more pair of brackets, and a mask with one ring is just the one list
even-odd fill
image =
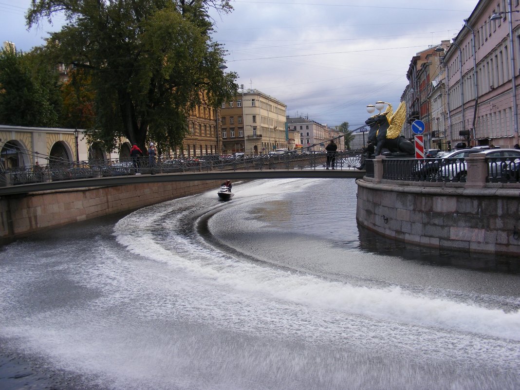
{"label": "dark arched deck beam of the footbridge, below its railing", "polygon": [[36,191],[56,191],[62,189],[77,189],[85,187],[128,186],[144,183],[166,183],[170,181],[196,180],[254,180],[254,179],[286,179],[286,178],[358,178],[363,177],[365,171],[348,170],[261,170],[261,171],[210,171],[189,173],[162,173],[131,176],[109,176],[75,180],[49,181],[44,183],[23,184],[0,188],[0,196],[23,194]]}

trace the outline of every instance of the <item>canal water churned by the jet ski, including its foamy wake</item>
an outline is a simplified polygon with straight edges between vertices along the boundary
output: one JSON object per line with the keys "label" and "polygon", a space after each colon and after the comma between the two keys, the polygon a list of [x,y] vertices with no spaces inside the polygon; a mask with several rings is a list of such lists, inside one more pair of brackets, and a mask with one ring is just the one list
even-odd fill
{"label": "canal water churned by the jet ski, including its foamy wake", "polygon": [[518,389],[518,258],[356,225],[352,179],[258,180],[0,252],[0,388]]}

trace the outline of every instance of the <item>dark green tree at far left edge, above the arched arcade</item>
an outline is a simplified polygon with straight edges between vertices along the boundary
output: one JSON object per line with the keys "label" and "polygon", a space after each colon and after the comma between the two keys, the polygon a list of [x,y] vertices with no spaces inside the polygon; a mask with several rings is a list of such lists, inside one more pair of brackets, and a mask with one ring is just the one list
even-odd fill
{"label": "dark green tree at far left edge, above the arched arcade", "polygon": [[33,51],[0,52],[0,123],[13,126],[59,125],[61,96],[57,72]]}

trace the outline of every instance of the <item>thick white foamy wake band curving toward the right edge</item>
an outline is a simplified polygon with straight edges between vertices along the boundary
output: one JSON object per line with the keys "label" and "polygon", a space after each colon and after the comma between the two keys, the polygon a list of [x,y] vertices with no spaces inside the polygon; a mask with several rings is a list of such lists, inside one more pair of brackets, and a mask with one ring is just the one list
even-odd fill
{"label": "thick white foamy wake band curving toward the right edge", "polygon": [[[279,187],[271,186],[269,189],[276,192]],[[258,193],[259,189],[253,187],[249,192]],[[170,207],[175,207],[175,203],[162,209],[154,208],[152,212],[138,211],[123,218],[114,229],[118,242],[133,253],[143,254],[142,248],[146,247],[144,255],[153,261],[167,263],[193,277],[211,280],[248,295],[261,295],[274,301],[288,301],[309,308],[335,310],[381,321],[520,341],[518,310],[505,313],[501,309],[452,302],[446,298],[413,295],[399,287],[363,288],[312,275],[297,275],[241,261],[175,231],[167,236],[167,242],[158,240],[153,234],[158,225],[170,230],[191,213],[172,212]],[[143,213],[146,213],[146,218]],[[144,220],[147,221],[146,225],[143,224]]]}

